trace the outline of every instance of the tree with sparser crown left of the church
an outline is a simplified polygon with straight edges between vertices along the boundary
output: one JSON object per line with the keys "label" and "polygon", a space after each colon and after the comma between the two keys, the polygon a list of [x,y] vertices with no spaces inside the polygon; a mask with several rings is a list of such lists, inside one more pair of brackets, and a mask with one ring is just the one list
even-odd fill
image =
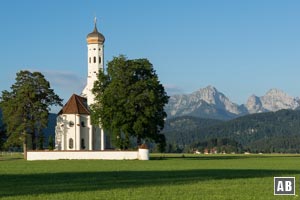
{"label": "tree with sparser crown left of the church", "polygon": [[11,91],[2,91],[0,107],[6,125],[8,146],[23,144],[26,158],[27,140],[33,148],[42,129],[47,126],[50,106],[62,106],[62,99],[50,88],[50,83],[40,72],[20,71]]}

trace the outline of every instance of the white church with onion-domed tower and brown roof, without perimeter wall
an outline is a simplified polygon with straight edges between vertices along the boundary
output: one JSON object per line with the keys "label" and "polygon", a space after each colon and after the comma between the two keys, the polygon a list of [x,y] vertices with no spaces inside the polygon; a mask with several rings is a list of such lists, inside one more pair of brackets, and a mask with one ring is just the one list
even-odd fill
{"label": "white church with onion-domed tower and brown roof, without perimeter wall", "polygon": [[87,35],[88,77],[82,94],[73,94],[60,110],[55,128],[56,150],[104,150],[105,135],[92,125],[89,106],[94,103],[92,88],[99,70],[104,69],[104,36],[97,30]]}

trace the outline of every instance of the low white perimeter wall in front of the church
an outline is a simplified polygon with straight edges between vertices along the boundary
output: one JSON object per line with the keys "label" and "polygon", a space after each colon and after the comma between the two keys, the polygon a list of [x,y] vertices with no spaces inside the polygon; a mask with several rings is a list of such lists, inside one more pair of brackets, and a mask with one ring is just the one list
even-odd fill
{"label": "low white perimeter wall in front of the church", "polygon": [[27,160],[149,160],[148,151],[28,151]]}

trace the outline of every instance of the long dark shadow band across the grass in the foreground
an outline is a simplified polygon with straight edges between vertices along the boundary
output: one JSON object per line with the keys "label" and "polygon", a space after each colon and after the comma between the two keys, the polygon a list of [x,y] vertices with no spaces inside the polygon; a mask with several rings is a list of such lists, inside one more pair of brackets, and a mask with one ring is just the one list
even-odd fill
{"label": "long dark shadow band across the grass in the foreground", "polygon": [[300,170],[201,169],[0,175],[0,197],[188,184],[300,174]]}

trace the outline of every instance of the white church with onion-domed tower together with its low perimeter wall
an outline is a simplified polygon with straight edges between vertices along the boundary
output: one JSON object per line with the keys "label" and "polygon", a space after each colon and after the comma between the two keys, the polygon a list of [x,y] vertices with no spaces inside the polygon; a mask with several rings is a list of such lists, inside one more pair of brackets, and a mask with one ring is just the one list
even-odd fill
{"label": "white church with onion-domed tower together with its low perimeter wall", "polygon": [[[87,35],[87,84],[80,95],[73,94],[59,111],[55,127],[54,151],[27,151],[27,160],[103,159],[149,160],[148,149],[105,150],[105,134],[91,123],[89,106],[94,103],[92,88],[99,70],[104,70],[104,36],[97,30]],[[76,83],[74,83],[76,84]],[[105,150],[105,151],[104,151]]]}

